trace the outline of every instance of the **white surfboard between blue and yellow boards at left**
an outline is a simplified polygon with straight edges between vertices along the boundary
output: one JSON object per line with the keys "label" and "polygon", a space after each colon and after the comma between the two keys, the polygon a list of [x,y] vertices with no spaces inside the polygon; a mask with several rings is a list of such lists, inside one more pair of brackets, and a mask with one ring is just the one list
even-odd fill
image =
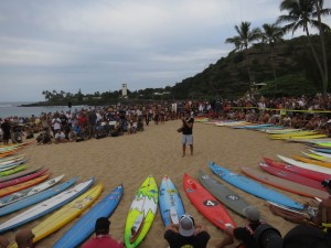
{"label": "white surfboard between blue and yellow boards at left", "polygon": [[3,222],[0,225],[0,233],[3,234],[4,231],[22,226],[36,218],[40,218],[41,216],[44,216],[45,214],[57,209],[58,207],[65,205],[66,203],[71,202],[72,200],[87,191],[88,187],[90,187],[90,185],[93,184],[93,182],[94,177],[83,183],[79,183],[67,191],[64,191],[58,195],[55,195],[46,201],[34,205],[33,207],[18,214],[17,216],[8,219],[7,222]]}

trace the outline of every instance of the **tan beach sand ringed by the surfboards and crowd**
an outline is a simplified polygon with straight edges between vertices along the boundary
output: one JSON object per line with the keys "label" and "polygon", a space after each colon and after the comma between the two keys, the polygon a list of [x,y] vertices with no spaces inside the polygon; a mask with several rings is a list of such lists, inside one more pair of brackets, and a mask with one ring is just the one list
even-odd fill
{"label": "tan beach sand ringed by the surfboards and crowd", "polygon": [[[207,174],[234,190],[249,204],[257,206],[265,222],[278,228],[282,235],[295,226],[295,224],[273,215],[264,205],[263,200],[244,193],[213,175],[207,168],[207,162],[214,161],[237,173],[241,173],[241,166],[259,170],[258,162],[263,160],[263,157],[277,159],[277,154],[286,157],[299,154],[300,151],[305,150],[303,144],[270,140],[266,133],[261,132],[195,122],[193,127],[194,155],[190,155],[188,148],[186,154],[189,155],[182,158],[181,134],[177,132],[180,126],[180,120],[167,121],[164,125],[158,126],[151,122],[150,126],[145,127],[143,132],[136,134],[100,140],[92,139],[85,142],[49,145],[32,144],[22,152],[30,159],[30,168],[46,166],[53,173],[53,177],[65,173],[62,182],[77,175],[81,176],[79,182],[96,176],[96,183],[102,182],[105,186],[96,203],[113,191],[115,186],[122,183],[125,187],[122,200],[110,217],[110,233],[117,239],[124,238],[129,207],[143,180],[148,175],[152,175],[160,185],[162,177],[169,175],[180,191],[186,212],[194,216],[195,223],[207,227],[211,234],[207,247],[214,247],[215,242],[223,237],[222,230],[213,226],[196,211],[186,197],[182,186],[183,173],[186,172],[197,179],[199,169],[203,169]],[[309,201],[307,197],[280,190],[277,191],[301,203]],[[231,211],[228,212],[237,226],[245,224],[242,217]],[[13,217],[15,214],[1,217],[1,222]],[[23,227],[33,228],[46,217],[47,215]],[[75,222],[73,220],[41,240],[36,247],[52,247]],[[168,247],[167,241],[163,239],[163,233],[164,226],[158,212],[150,231],[139,247]],[[4,236],[13,240],[14,234],[15,231],[9,231]]]}

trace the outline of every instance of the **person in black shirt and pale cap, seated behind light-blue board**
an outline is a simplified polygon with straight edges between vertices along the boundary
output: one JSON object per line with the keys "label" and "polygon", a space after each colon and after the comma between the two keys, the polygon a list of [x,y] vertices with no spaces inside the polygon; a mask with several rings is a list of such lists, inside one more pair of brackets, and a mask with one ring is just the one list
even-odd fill
{"label": "person in black shirt and pale cap, seated behind light-blue board", "polygon": [[211,236],[202,225],[195,225],[191,215],[183,215],[179,224],[170,224],[164,233],[164,239],[170,248],[205,248]]}

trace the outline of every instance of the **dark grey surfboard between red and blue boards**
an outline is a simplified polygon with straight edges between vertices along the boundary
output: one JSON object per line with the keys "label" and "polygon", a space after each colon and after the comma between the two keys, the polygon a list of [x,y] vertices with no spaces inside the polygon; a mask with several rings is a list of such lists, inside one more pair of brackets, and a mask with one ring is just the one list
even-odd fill
{"label": "dark grey surfboard between red and blue boards", "polygon": [[226,187],[224,184],[209,176],[202,170],[199,170],[199,181],[221,203],[244,217],[243,209],[250,205],[243,197]]}

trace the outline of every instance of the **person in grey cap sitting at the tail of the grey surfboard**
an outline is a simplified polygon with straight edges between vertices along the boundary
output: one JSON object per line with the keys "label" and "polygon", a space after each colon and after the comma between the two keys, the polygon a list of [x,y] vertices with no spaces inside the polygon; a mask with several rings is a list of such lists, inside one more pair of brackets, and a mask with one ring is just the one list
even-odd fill
{"label": "person in grey cap sitting at the tail of the grey surfboard", "polygon": [[249,206],[244,208],[244,216],[247,218],[248,224],[245,227],[234,228],[233,226],[227,226],[224,230],[226,236],[225,238],[216,244],[215,248],[223,248],[234,242],[234,238],[244,244],[245,248],[256,248],[257,242],[254,238],[254,233],[258,226],[263,223],[260,222],[259,211]]}

